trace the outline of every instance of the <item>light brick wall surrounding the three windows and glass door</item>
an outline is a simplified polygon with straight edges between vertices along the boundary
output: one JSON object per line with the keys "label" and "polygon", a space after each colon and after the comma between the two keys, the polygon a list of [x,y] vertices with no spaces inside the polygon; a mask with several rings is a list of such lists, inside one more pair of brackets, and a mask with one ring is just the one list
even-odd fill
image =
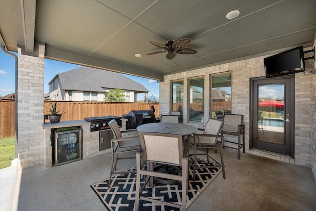
{"label": "light brick wall surrounding the three windows and glass door", "polygon": [[[312,49],[306,48],[309,50]],[[316,74],[297,73],[295,74],[295,158],[279,155],[263,150],[249,149],[249,102],[250,102],[250,78],[265,76],[264,58],[259,56],[236,62],[205,67],[197,70],[176,73],[164,76],[164,81],[159,83],[159,111],[160,114],[168,114],[172,96],[162,93],[171,93],[171,82],[182,79],[184,81],[184,96],[188,96],[188,79],[193,77],[204,77],[204,119],[209,118],[209,76],[215,73],[231,71],[232,73],[232,111],[234,114],[243,114],[245,124],[245,148],[247,153],[268,157],[284,162],[312,167],[316,177]],[[305,61],[306,71],[312,70],[313,64]],[[315,64],[314,64],[315,66]],[[188,102],[184,98],[184,123],[187,123]],[[188,123],[203,127],[200,125]],[[313,131],[313,132],[312,132]],[[313,149],[313,150],[312,150]],[[242,159],[242,157],[241,157]]]}

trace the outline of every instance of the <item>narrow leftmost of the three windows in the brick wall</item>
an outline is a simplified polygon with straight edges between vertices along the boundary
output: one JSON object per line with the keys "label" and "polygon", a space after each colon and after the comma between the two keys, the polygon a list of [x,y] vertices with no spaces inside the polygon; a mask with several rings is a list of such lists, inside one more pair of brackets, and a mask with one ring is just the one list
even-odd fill
{"label": "narrow leftmost of the three windows in the brick wall", "polygon": [[172,82],[171,111],[181,111],[183,115],[183,81]]}

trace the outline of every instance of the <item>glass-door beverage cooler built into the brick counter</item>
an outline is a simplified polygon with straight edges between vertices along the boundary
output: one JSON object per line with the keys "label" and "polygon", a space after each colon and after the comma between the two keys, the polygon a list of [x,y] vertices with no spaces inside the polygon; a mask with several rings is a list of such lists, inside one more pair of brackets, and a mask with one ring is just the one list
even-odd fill
{"label": "glass-door beverage cooler built into the brick counter", "polygon": [[55,165],[81,160],[81,129],[55,130]]}

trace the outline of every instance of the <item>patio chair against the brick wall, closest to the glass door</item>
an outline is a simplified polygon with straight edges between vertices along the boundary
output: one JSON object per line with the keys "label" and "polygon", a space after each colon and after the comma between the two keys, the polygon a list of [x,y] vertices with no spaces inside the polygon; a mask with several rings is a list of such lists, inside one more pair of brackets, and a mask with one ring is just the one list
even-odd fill
{"label": "patio chair against the brick wall, closest to the glass door", "polygon": [[[224,116],[224,125],[221,129],[220,133],[222,135],[235,135],[238,136],[238,143],[237,143],[237,158],[240,160],[240,148],[242,147],[242,152],[245,152],[245,125],[242,125],[242,117],[243,115],[239,114],[225,114]],[[242,135],[242,143],[240,141],[240,136]],[[230,142],[236,144],[236,142],[224,140],[225,142]],[[236,149],[235,147],[225,146],[228,148]]]}

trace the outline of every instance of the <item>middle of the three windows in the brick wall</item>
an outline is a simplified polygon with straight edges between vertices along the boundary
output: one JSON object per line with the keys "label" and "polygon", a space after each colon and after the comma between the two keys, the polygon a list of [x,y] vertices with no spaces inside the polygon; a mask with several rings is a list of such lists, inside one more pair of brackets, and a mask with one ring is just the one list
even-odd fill
{"label": "middle of the three windows in the brick wall", "polygon": [[204,78],[189,80],[189,120],[204,122]]}

